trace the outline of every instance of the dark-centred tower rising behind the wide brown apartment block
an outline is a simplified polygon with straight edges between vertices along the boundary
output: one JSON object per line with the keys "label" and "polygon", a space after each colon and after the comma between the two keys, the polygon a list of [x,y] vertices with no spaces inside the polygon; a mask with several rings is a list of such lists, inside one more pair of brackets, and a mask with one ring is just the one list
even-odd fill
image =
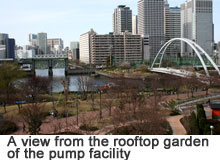
{"label": "dark-centred tower rising behind the wide brown apartment block", "polygon": [[112,16],[113,32],[121,34],[122,32],[132,32],[132,11],[125,5],[119,5]]}

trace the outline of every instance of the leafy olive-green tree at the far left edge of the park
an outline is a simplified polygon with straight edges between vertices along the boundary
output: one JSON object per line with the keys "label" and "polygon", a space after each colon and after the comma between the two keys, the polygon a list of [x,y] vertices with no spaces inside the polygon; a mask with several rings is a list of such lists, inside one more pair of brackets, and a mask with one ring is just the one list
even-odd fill
{"label": "leafy olive-green tree at the far left edge of the park", "polygon": [[12,103],[15,98],[15,81],[25,76],[16,63],[0,64],[0,102],[3,103],[6,113],[6,105]]}

